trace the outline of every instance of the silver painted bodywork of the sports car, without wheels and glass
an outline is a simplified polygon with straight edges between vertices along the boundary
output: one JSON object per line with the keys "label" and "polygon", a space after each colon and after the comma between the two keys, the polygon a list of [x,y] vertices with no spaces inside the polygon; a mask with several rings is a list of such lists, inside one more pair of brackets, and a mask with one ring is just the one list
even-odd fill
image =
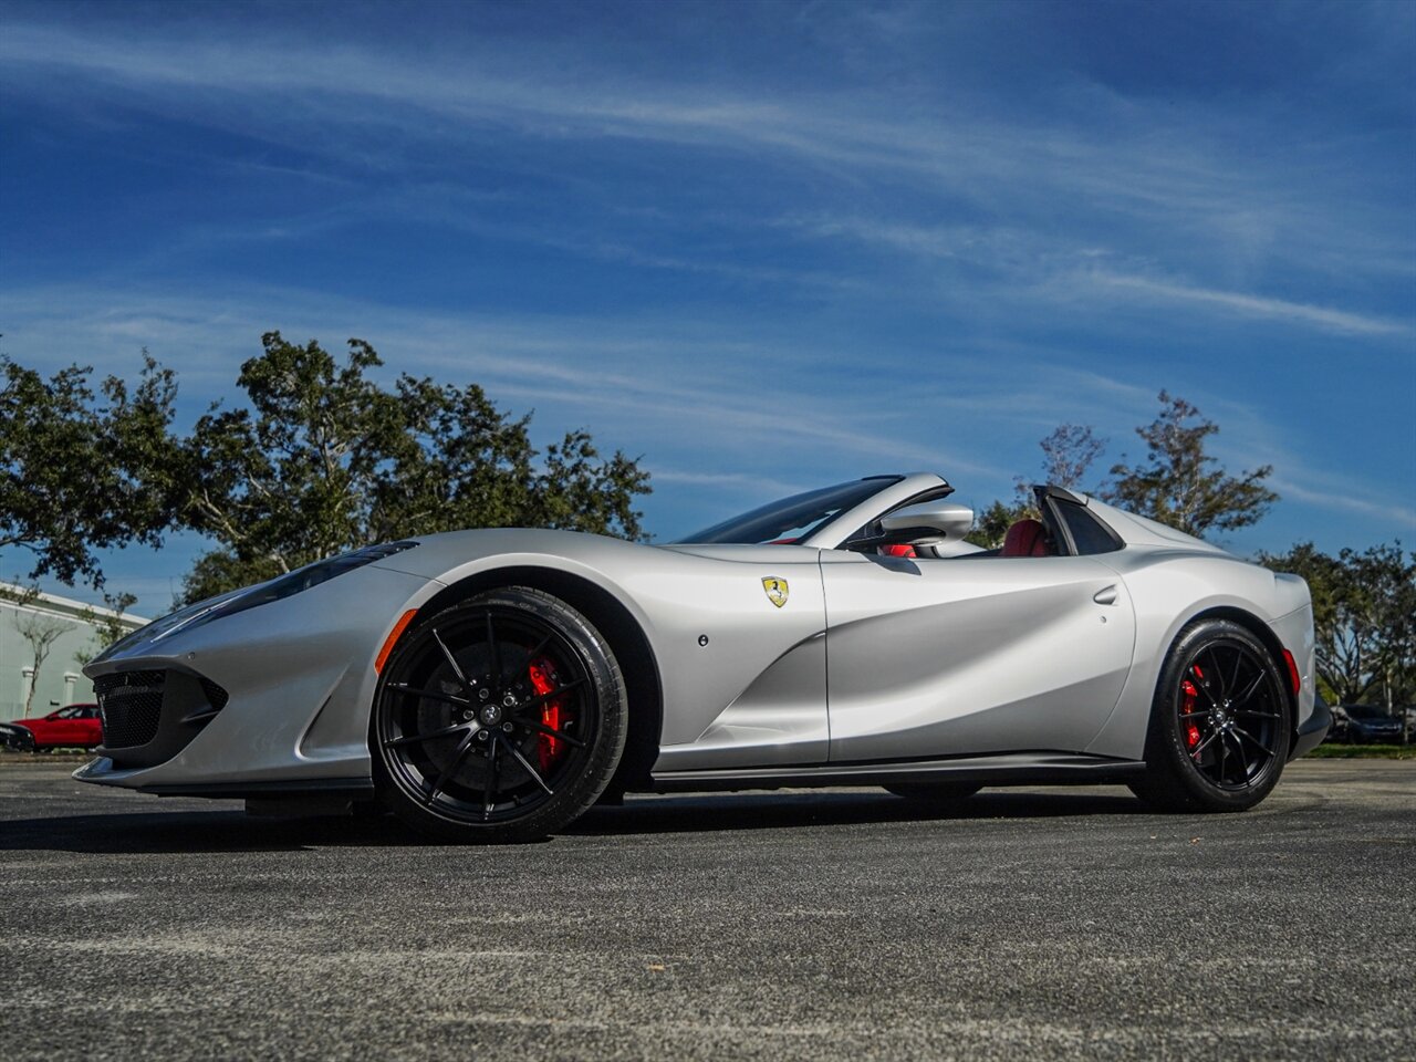
{"label": "silver painted bodywork of the sports car, without wheels and glass", "polygon": [[[377,673],[398,617],[501,569],[549,571],[612,595],[640,627],[663,695],[656,776],[790,776],[831,765],[1029,756],[1134,762],[1165,651],[1215,607],[1267,624],[1313,712],[1307,588],[1086,500],[1126,547],[1096,556],[886,558],[840,549],[944,481],[885,486],[800,545],[643,545],[566,531],[432,535],[283,600],[135,639],[85,673],[193,670],[229,702],[173,759],[88,782],[197,790],[362,780]],[[763,579],[784,581],[782,605]],[[513,579],[514,581],[514,579]],[[634,711],[634,705],[630,705]],[[1070,763],[1070,760],[1068,760]],[[726,772],[726,775],[724,775]]]}

